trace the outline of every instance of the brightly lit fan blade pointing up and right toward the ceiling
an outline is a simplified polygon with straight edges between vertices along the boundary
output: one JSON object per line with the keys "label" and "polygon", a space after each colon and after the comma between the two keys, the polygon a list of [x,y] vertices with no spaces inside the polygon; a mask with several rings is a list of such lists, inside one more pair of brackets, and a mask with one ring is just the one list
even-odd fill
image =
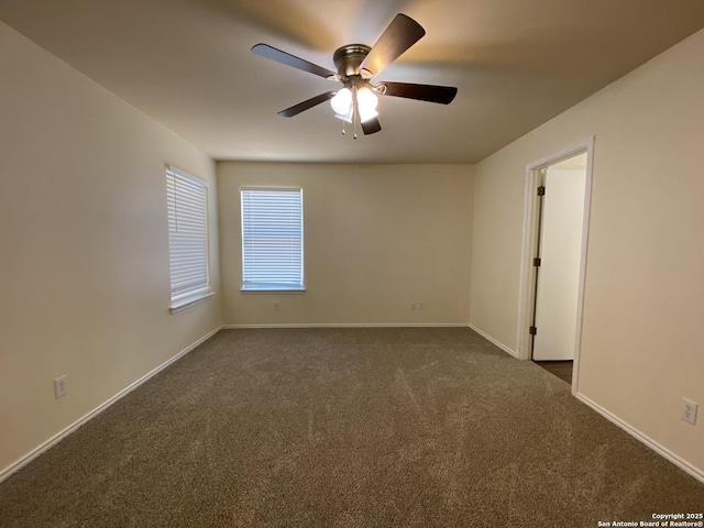
{"label": "brightly lit fan blade pointing up and right toward the ceiling", "polygon": [[372,51],[364,57],[360,69],[366,69],[373,76],[403,55],[403,53],[418,42],[426,30],[410,16],[398,13],[378,37]]}

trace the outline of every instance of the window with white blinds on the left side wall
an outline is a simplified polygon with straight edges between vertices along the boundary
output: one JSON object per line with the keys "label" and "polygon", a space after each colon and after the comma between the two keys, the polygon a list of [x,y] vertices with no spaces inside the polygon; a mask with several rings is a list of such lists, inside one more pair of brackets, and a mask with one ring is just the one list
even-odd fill
{"label": "window with white blinds on the left side wall", "polygon": [[174,312],[213,295],[208,276],[208,184],[168,166],[166,196]]}

